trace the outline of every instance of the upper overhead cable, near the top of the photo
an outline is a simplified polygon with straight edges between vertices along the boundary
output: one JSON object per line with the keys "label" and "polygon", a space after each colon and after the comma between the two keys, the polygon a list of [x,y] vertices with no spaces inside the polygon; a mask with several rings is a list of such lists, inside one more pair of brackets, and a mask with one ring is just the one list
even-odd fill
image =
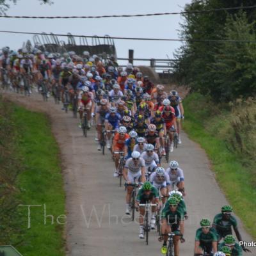
{"label": "upper overhead cable, near the top of the photo", "polygon": [[0,18],[12,18],[12,19],[102,19],[102,18],[129,18],[129,17],[148,17],[148,16],[161,16],[161,15],[179,15],[179,14],[193,14],[193,13],[210,13],[220,12],[228,10],[241,10],[256,8],[256,5],[252,6],[237,6],[229,8],[218,8],[210,10],[200,10],[191,12],[164,12],[164,13],[145,13],[145,14],[131,14],[131,15],[101,15],[101,16],[16,16],[16,15],[0,15]]}

